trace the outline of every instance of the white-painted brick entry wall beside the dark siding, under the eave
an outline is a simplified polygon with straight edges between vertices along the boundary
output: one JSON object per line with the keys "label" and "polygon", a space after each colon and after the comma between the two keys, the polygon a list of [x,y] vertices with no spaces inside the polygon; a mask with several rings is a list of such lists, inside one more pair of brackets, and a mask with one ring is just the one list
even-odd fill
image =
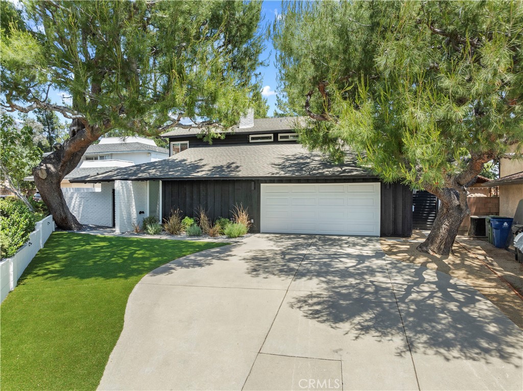
{"label": "white-painted brick entry wall beside the dark siding, under the eave", "polygon": [[[147,216],[147,182],[115,181],[117,233],[131,231],[133,223],[142,225]],[[143,211],[144,213],[140,214]]]}

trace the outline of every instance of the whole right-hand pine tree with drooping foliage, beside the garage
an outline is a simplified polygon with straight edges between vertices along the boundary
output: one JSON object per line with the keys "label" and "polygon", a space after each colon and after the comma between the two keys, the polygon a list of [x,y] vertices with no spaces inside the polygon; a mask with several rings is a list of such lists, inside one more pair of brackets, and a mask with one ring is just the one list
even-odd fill
{"label": "whole right-hand pine tree with drooping foliage, beside the garage", "polygon": [[274,27],[280,89],[311,119],[301,140],[435,194],[418,249],[448,255],[467,186],[523,140],[523,3],[294,2]]}

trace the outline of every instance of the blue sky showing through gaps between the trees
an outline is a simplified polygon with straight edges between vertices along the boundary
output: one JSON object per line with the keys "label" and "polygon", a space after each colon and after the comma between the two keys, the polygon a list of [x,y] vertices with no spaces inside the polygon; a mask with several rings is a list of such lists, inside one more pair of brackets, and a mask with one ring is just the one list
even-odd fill
{"label": "blue sky showing through gaps between the trees", "polygon": [[[264,17],[263,22],[260,24],[260,26],[264,26],[266,24],[269,24],[269,26],[272,26],[274,23],[275,18],[277,18],[280,15],[281,12],[281,1],[264,1],[262,4],[262,16]],[[272,47],[272,41],[269,39],[266,42],[266,49],[261,55],[261,60],[267,60],[266,62],[268,65],[266,67],[259,67],[258,72],[261,73],[261,76],[263,78],[263,83],[261,83],[261,86],[263,86],[261,94],[267,98],[267,102],[269,103],[269,111],[267,112],[267,115],[269,117],[272,117],[272,114],[274,113],[274,110],[276,109],[276,93],[277,93],[277,81],[276,81],[276,66],[275,66],[275,50],[274,47]],[[71,103],[71,99],[69,99],[69,96],[67,94],[60,93],[60,91],[51,90],[49,91],[49,98],[56,103],[62,103],[62,101],[65,101],[65,103]],[[66,121],[69,123],[69,120],[65,120],[65,118],[62,117],[60,113],[57,113],[58,116],[62,121]]]}

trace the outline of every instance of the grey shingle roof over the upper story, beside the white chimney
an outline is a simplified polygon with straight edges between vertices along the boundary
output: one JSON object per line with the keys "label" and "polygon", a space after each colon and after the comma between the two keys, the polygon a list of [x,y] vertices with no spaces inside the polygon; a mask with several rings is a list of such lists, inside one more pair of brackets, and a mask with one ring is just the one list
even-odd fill
{"label": "grey shingle roof over the upper story, beside the white chimney", "polygon": [[[238,125],[235,125],[233,131],[228,131],[226,133],[267,133],[286,130],[292,131],[297,128],[297,125],[304,126],[306,118],[307,117],[255,118],[254,126],[251,126],[251,128],[240,129],[238,128]],[[172,131],[162,134],[161,137],[191,136],[200,132],[201,129],[197,128],[174,128]]]}

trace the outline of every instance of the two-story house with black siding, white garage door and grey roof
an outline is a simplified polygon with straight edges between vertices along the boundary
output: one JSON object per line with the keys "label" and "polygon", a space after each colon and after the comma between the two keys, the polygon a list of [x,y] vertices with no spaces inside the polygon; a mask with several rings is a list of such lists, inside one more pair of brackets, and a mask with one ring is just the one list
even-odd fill
{"label": "two-story house with black siding, white garage door and grey roof", "polygon": [[302,118],[249,114],[212,144],[197,129],[173,129],[162,135],[168,159],[72,181],[115,191],[117,232],[147,215],[167,218],[174,209],[191,216],[202,206],[212,219],[231,217],[241,203],[252,232],[411,235],[410,189],[381,183],[353,154],[334,164],[309,151],[294,131]]}

